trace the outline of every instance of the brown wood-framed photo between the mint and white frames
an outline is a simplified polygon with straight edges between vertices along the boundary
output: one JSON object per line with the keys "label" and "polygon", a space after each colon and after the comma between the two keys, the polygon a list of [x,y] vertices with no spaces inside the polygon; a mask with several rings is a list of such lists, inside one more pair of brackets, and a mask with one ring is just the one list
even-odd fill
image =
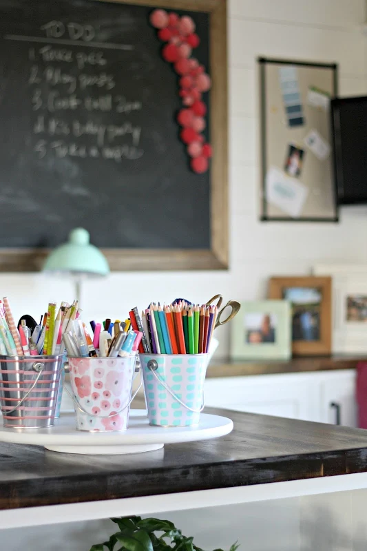
{"label": "brown wood-framed photo between the mint and white frames", "polygon": [[294,355],[331,353],[331,278],[271,278],[269,298],[291,303]]}

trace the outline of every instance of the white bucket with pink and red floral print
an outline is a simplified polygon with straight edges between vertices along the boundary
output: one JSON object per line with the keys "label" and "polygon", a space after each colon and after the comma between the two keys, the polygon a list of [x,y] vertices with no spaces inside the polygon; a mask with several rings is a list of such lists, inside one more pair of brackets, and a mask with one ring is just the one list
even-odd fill
{"label": "white bucket with pink and red floral print", "polygon": [[135,355],[69,358],[78,430],[127,429],[130,404],[136,395],[132,397],[135,361]]}

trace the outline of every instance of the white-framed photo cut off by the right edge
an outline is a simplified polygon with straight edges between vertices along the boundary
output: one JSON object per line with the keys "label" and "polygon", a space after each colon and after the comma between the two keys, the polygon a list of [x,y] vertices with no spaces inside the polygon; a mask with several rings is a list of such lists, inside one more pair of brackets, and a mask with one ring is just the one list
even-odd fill
{"label": "white-framed photo cut off by the right edge", "polygon": [[367,266],[319,264],[313,273],[332,278],[333,352],[367,353]]}

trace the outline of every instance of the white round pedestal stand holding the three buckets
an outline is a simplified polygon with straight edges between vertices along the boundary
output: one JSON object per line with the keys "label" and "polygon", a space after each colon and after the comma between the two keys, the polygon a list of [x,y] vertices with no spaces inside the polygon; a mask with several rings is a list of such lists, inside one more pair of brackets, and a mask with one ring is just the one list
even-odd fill
{"label": "white round pedestal stand holding the three buckets", "polygon": [[219,415],[200,415],[200,424],[187,427],[149,426],[145,410],[131,410],[129,428],[116,432],[83,432],[75,428],[73,412],[61,412],[50,428],[0,428],[0,441],[33,444],[47,450],[91,455],[140,453],[159,450],[165,444],[206,440],[227,435],[233,422]]}

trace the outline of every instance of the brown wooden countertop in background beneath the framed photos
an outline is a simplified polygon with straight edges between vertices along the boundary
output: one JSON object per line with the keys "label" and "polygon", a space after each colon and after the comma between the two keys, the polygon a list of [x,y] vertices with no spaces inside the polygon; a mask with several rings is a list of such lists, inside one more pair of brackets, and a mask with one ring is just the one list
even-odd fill
{"label": "brown wooden countertop in background beneath the framed photos", "polygon": [[367,362],[367,355],[333,355],[316,357],[293,357],[286,362],[277,360],[253,360],[234,362],[212,360],[207,377],[240,377],[271,373],[302,373],[304,371],[332,371],[355,369],[358,362]]}

